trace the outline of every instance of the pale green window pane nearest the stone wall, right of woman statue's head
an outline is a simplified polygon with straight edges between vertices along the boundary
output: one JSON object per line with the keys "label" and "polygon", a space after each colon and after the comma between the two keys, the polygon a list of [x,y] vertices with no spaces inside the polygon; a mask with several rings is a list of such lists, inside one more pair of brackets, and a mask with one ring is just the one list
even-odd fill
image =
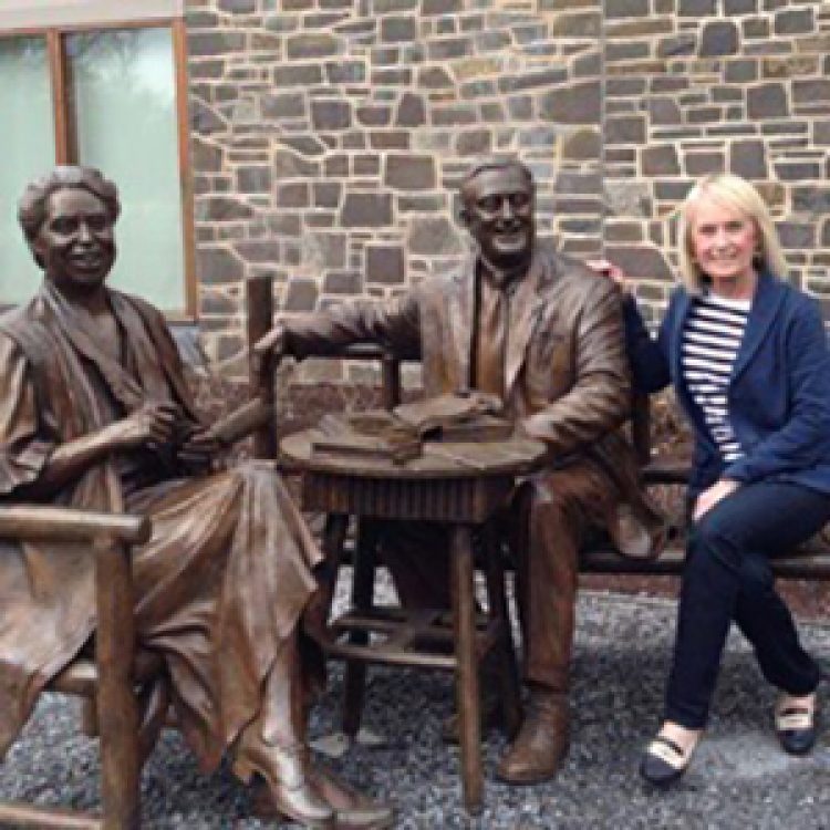
{"label": "pale green window pane nearest the stone wall, right of woman statue's head", "polygon": [[111,284],[167,311],[185,308],[176,81],[169,29],[68,35],[81,164],[118,186]]}

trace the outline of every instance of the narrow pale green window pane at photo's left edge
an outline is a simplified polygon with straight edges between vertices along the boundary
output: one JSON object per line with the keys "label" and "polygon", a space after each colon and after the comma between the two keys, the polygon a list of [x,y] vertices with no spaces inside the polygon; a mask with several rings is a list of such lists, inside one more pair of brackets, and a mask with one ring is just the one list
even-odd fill
{"label": "narrow pale green window pane at photo's left edge", "polygon": [[54,164],[52,97],[43,38],[0,38],[0,304],[40,284],[18,225],[18,199]]}

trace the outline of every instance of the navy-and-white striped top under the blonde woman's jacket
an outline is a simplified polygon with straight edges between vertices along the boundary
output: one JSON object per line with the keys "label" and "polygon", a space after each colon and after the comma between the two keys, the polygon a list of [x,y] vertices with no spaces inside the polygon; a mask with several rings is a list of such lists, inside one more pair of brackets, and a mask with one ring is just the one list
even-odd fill
{"label": "navy-and-white striped top under the blonde woman's jacket", "polygon": [[744,455],[729,424],[726,392],[750,305],[751,300],[704,294],[693,300],[683,330],[683,377],[725,461]]}

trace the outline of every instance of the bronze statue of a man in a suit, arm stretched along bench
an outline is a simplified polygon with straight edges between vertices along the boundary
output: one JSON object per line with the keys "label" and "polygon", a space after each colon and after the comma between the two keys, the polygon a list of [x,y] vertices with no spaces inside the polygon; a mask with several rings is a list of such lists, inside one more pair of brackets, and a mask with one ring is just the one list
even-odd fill
{"label": "bronze statue of a man in a suit, arm stretched along bench", "polygon": [[[258,344],[303,357],[374,342],[419,355],[427,396],[498,395],[519,434],[544,442],[549,463],[518,483],[504,525],[517,558],[530,713],[498,775],[531,784],[568,747],[568,688],[579,548],[605,529],[630,554],[650,553],[657,518],[636,487],[618,427],[630,409],[619,290],[536,238],[535,185],[517,160],[476,165],[461,184],[475,253],[400,298],[286,317]],[[446,533],[397,523],[383,552],[402,600],[448,605]]]}

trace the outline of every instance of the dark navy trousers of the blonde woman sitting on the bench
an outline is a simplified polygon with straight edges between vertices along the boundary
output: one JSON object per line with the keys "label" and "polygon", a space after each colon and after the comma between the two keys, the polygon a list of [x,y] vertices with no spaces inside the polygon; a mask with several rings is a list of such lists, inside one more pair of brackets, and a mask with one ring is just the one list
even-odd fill
{"label": "dark navy trousers of the blonde woman sitting on the bench", "polygon": [[806,541],[830,519],[830,496],[792,484],[741,486],[691,527],[677,614],[666,719],[706,725],[729,623],[751,643],[764,676],[808,695],[819,668],[798,641],[775,590],[770,560]]}

